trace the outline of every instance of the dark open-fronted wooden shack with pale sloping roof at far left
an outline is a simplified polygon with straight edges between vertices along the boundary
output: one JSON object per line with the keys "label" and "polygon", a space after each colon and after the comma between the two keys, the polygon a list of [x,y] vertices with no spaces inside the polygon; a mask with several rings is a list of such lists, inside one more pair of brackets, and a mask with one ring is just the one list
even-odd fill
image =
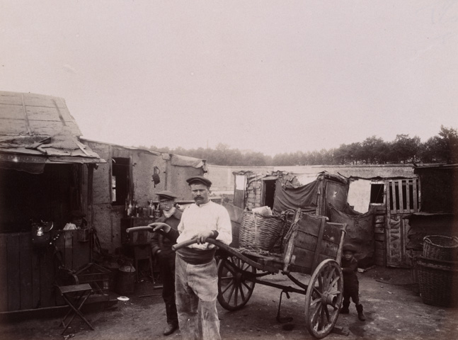
{"label": "dark open-fronted wooden shack with pale sloping roof at far left", "polygon": [[0,92],[0,312],[63,305],[57,262],[77,269],[91,259],[91,242],[62,232],[71,210],[86,211],[86,188],[105,162],[80,135],[64,99]]}

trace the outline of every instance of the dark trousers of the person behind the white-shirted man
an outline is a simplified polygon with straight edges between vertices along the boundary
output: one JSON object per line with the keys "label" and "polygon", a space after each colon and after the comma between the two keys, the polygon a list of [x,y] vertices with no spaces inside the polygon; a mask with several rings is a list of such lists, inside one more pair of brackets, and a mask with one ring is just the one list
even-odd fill
{"label": "dark trousers of the person behind the white-shirted man", "polygon": [[157,256],[162,278],[162,298],[166,304],[168,324],[178,324],[175,304],[175,251],[163,250]]}

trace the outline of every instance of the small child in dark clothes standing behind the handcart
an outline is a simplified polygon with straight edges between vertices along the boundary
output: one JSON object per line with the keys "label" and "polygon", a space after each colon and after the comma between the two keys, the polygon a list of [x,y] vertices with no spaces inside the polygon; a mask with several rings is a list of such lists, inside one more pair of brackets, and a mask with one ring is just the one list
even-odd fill
{"label": "small child in dark clothes standing behind the handcart", "polygon": [[340,313],[348,314],[350,306],[350,297],[355,302],[357,317],[361,321],[365,321],[365,316],[362,313],[362,305],[360,304],[359,282],[357,280],[357,260],[355,259],[356,248],[353,244],[343,245],[342,256],[342,272],[343,272],[343,303],[340,308]]}

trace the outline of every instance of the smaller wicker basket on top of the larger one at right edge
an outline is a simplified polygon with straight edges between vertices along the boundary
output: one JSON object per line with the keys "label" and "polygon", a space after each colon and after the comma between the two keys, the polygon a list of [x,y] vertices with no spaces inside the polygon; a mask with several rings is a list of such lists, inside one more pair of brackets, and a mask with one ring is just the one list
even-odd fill
{"label": "smaller wicker basket on top of the larger one at right edge", "polygon": [[423,257],[442,261],[458,261],[458,237],[441,235],[424,237]]}

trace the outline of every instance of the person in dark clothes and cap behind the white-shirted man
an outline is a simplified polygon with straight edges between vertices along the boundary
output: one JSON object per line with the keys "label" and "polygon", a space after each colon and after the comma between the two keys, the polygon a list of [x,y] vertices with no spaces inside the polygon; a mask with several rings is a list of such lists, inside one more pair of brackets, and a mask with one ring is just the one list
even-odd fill
{"label": "person in dark clothes and cap behind the white-shirted man", "polygon": [[[162,216],[156,222],[163,222],[171,228],[178,230],[181,220],[181,210],[176,208],[177,196],[171,191],[156,193],[159,198],[159,208]],[[175,251],[172,250],[174,242],[155,232],[151,239],[151,251],[159,263],[162,278],[162,298],[166,304],[167,326],[164,335],[170,335],[178,329],[178,315],[175,305]]]}

